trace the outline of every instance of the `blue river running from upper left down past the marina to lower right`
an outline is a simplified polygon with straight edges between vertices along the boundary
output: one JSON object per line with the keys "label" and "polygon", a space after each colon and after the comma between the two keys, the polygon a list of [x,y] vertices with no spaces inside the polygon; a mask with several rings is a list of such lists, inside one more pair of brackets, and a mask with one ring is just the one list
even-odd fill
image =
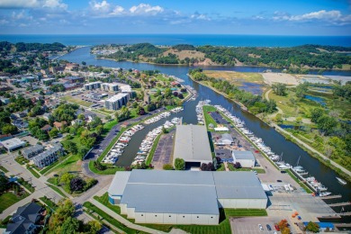
{"label": "blue river running from upper left down past the marina to lower right", "polygon": [[[291,141],[284,139],[282,135],[276,132],[273,128],[268,126],[264,121],[259,120],[256,116],[249,112],[243,112],[237,103],[230,101],[224,96],[217,94],[210,88],[199,85],[193,80],[191,80],[186,74],[189,69],[192,67],[184,66],[160,66],[152,65],[147,63],[132,63],[132,62],[116,62],[107,59],[96,59],[94,55],[90,54],[90,48],[76,49],[75,51],[67,54],[60,59],[66,59],[71,62],[81,63],[85,61],[88,65],[97,65],[103,67],[121,67],[121,68],[135,68],[138,70],[159,70],[162,73],[167,75],[177,76],[184,80],[184,85],[191,85],[198,92],[197,99],[193,102],[184,103],[184,112],[176,114],[176,116],[182,116],[183,121],[187,123],[196,124],[196,112],[194,106],[198,103],[199,100],[210,99],[211,104],[220,104],[230,112],[238,116],[241,120],[246,122],[246,126],[249,130],[253,131],[255,135],[259,138],[262,138],[266,145],[272,148],[276,154],[283,153],[283,159],[285,162],[295,166],[298,158],[300,158],[300,166],[303,166],[310,175],[316,177],[318,181],[328,187],[328,191],[334,194],[341,194],[342,199],[340,201],[346,202],[351,201],[351,183],[347,185],[341,185],[338,183],[336,176],[338,174],[331,170],[328,166],[324,166],[314,157],[311,157],[307,152],[302,150]],[[221,70],[235,70],[241,72],[263,72],[269,67],[202,67],[204,69],[221,69]],[[274,72],[280,71],[279,69],[271,68]],[[311,74],[316,74],[317,71],[311,72]],[[351,76],[350,71],[326,71],[324,75],[331,76]],[[171,115],[175,116],[175,115]],[[163,121],[162,121],[163,122]],[[161,122],[160,122],[161,123]],[[159,124],[153,125],[153,127],[158,126]],[[138,134],[138,133],[137,133]],[[138,134],[138,139],[135,141],[141,141],[143,136],[145,136],[145,131],[140,131]],[[123,160],[124,161],[124,160]],[[278,179],[278,178],[277,178]],[[332,202],[339,202],[333,200]],[[341,207],[335,209],[339,212]],[[345,207],[345,211],[351,211],[350,207]],[[343,221],[350,222],[350,218],[346,218]]]}

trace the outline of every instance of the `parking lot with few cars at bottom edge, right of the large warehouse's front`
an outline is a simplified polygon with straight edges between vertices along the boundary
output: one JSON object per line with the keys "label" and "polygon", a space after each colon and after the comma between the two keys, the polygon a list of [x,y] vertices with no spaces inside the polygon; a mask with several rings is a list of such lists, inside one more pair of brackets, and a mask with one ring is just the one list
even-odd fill
{"label": "parking lot with few cars at bottom edge, right of the large warehouse's front", "polygon": [[[245,234],[254,234],[254,233],[275,233],[275,223],[284,219],[284,217],[276,216],[276,217],[250,217],[250,218],[238,218],[238,219],[230,219],[230,228],[231,233],[245,233]],[[288,223],[292,226],[292,223]],[[262,225],[263,230],[260,230],[258,224]],[[272,230],[268,230],[266,225],[269,225]],[[292,233],[296,233],[294,229],[291,229]],[[278,231],[276,231],[278,232]]]}

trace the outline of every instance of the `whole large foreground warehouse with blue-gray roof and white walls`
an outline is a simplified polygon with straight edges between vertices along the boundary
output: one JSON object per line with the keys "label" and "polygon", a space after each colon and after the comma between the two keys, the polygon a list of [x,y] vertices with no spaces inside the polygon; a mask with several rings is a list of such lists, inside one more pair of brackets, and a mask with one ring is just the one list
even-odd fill
{"label": "whole large foreground warehouse with blue-gray roof and white walls", "polygon": [[109,202],[137,223],[217,225],[219,208],[266,209],[266,193],[253,172],[117,172]]}

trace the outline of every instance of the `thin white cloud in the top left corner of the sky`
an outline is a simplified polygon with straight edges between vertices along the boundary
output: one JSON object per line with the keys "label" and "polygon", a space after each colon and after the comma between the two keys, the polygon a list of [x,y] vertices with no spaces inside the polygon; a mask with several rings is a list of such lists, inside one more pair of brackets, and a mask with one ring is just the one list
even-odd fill
{"label": "thin white cloud in the top left corner of the sky", "polygon": [[61,0],[1,0],[0,8],[63,8],[67,9],[67,4]]}

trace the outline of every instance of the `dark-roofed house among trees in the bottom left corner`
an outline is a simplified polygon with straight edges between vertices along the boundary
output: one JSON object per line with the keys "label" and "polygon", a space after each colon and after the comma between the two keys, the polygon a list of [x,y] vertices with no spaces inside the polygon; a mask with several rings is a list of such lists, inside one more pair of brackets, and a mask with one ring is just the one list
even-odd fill
{"label": "dark-roofed house among trees in the bottom left corner", "polygon": [[14,213],[13,223],[7,224],[6,234],[36,233],[40,227],[40,220],[43,218],[45,209],[35,202],[28,203],[17,209]]}

